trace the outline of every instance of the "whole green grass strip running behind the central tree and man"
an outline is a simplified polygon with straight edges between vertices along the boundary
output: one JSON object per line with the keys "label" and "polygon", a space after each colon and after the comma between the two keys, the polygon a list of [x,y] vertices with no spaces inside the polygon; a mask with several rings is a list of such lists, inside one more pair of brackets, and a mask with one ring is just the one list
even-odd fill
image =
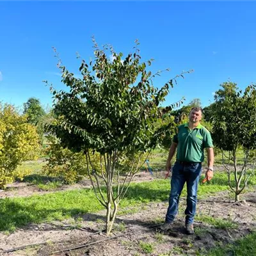
{"label": "whole green grass strip running behind the central tree and man", "polygon": [[[215,173],[209,184],[199,186],[198,195],[213,195],[218,191],[228,189],[223,173]],[[252,182],[254,184],[255,177]],[[186,190],[186,189],[184,189]],[[131,184],[127,195],[120,203],[120,211],[141,207],[150,202],[168,200],[170,180],[159,179],[150,182]],[[183,191],[184,196],[186,191]],[[4,198],[0,200],[0,230],[13,231],[28,223],[64,220],[77,214],[91,214],[104,209],[96,200],[92,189],[74,189],[46,195],[34,195],[26,198]]]}

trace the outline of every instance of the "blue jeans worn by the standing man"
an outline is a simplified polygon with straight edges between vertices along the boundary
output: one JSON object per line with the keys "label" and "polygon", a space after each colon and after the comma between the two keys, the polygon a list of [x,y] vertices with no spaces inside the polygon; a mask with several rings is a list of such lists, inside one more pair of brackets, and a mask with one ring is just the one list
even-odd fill
{"label": "blue jeans worn by the standing man", "polygon": [[172,170],[171,193],[165,222],[170,223],[178,213],[179,197],[187,183],[186,224],[192,224],[196,213],[197,188],[202,172],[202,163],[180,163],[176,161]]}

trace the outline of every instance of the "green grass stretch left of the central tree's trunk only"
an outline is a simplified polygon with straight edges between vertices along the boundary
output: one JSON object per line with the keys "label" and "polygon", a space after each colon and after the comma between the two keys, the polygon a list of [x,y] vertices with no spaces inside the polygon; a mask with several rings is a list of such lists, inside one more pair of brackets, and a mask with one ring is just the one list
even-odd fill
{"label": "green grass stretch left of the central tree's trunk only", "polygon": [[28,223],[64,220],[75,214],[96,212],[102,206],[93,191],[65,191],[27,198],[6,198],[0,201],[0,230],[13,231]]}

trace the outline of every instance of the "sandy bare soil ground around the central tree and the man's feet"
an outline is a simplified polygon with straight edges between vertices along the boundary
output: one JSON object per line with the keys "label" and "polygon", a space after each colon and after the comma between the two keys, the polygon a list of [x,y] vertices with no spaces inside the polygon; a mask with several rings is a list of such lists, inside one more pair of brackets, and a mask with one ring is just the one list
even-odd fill
{"label": "sandy bare soil ground around the central tree and the man's feet", "polygon": [[[163,173],[159,173],[163,177]],[[155,179],[149,173],[141,173],[137,182]],[[0,197],[28,196],[47,193],[38,191],[36,186],[13,184],[12,189],[1,191]],[[61,189],[74,189],[90,186],[81,182],[76,186]],[[200,221],[195,223],[195,235],[187,236],[184,230],[184,207],[186,200],[180,200],[180,214],[169,232],[159,230],[159,221],[164,220],[168,202],[143,205],[133,214],[117,216],[113,234],[107,237],[104,230],[105,212],[84,214],[79,226],[67,221],[28,225],[12,234],[0,232],[0,255],[196,255],[207,252],[218,244],[234,243],[239,237],[255,230],[256,193],[243,195],[243,201],[234,204],[228,192],[198,200],[198,215],[230,220],[237,224],[236,229],[215,228]],[[250,202],[252,200],[252,202]],[[158,223],[158,224],[156,224]],[[111,238],[111,239],[109,239]],[[98,243],[99,242],[99,243]],[[84,244],[88,244],[83,246]],[[33,246],[32,246],[33,245]],[[10,250],[27,246],[23,250]],[[72,250],[75,247],[79,247]],[[64,252],[60,252],[60,251]]]}

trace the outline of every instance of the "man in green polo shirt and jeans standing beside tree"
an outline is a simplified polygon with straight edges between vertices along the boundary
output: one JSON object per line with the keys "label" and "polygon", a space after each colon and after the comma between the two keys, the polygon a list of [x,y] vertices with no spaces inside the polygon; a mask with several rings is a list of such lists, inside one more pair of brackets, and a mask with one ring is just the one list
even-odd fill
{"label": "man in green polo shirt and jeans standing beside tree", "polygon": [[172,228],[173,220],[178,213],[179,197],[184,184],[187,184],[186,234],[194,234],[193,221],[196,213],[197,188],[204,161],[204,148],[207,150],[208,168],[205,178],[213,177],[213,145],[210,132],[200,124],[202,108],[192,108],[188,124],[178,127],[173,138],[166,162],[166,171],[171,169],[171,161],[177,148],[177,160],[172,169],[171,192],[165,223],[161,230]]}

